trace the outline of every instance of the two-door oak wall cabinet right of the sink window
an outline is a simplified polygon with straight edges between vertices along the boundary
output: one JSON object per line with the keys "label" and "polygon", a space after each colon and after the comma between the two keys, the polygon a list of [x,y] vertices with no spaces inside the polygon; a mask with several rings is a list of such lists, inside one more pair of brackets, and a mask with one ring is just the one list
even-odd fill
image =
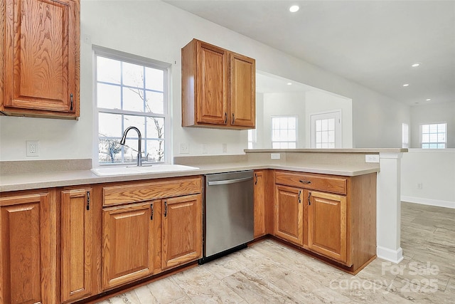
{"label": "two-door oak wall cabinet right of the sink window", "polygon": [[193,39],[182,48],[182,126],[255,128],[255,59]]}

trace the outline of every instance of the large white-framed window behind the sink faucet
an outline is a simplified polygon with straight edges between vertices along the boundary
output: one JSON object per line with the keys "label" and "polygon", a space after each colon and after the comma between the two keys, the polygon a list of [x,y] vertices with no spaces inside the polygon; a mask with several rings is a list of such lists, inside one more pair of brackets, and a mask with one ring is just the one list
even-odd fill
{"label": "large white-framed window behind the sink faucet", "polygon": [[97,164],[137,162],[137,132],[129,131],[125,145],[119,144],[130,126],[141,132],[142,156],[166,162],[169,66],[95,48]]}

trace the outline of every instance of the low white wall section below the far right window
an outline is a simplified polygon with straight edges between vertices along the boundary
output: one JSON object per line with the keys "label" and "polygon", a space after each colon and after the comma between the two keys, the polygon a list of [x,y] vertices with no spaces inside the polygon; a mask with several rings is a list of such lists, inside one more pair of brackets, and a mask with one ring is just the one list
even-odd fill
{"label": "low white wall section below the far right window", "polygon": [[402,201],[455,208],[455,149],[410,149],[401,164]]}

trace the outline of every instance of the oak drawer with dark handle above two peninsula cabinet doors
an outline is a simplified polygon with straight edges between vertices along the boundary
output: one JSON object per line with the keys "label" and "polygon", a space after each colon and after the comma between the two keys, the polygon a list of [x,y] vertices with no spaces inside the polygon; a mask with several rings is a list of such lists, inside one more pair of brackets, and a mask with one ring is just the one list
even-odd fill
{"label": "oak drawer with dark handle above two peninsula cabinet doors", "polygon": [[275,184],[346,194],[347,178],[275,171]]}

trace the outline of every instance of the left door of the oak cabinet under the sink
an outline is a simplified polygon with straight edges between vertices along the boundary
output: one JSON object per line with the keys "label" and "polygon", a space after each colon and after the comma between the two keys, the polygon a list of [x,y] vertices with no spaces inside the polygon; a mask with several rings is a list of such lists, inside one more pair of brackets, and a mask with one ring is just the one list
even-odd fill
{"label": "left door of the oak cabinet under the sink", "polygon": [[156,201],[103,209],[104,290],[153,273],[154,204]]}

